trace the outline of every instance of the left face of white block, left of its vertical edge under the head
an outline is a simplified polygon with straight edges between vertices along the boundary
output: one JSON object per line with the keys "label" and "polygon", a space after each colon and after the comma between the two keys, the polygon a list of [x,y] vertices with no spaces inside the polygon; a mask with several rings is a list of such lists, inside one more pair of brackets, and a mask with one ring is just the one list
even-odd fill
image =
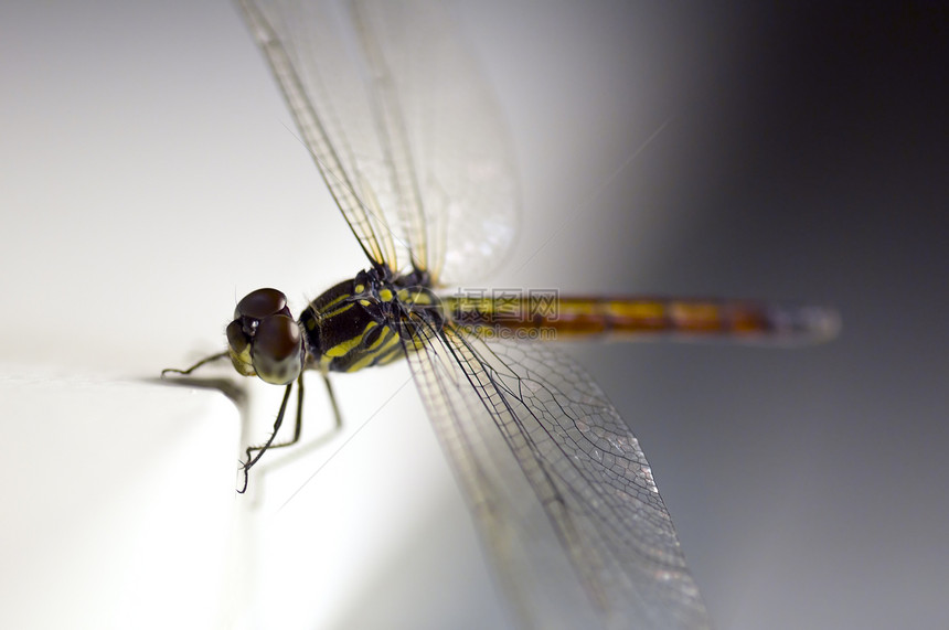
{"label": "left face of white block, left of its vertical edge under the head", "polygon": [[224,627],[233,405],[23,372],[0,372],[0,627]]}

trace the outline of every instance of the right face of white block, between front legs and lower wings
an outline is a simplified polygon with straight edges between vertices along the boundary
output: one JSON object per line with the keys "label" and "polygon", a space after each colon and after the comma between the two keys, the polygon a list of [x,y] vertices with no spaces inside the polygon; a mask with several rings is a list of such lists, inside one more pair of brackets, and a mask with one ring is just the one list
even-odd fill
{"label": "right face of white block, between front legs and lower wings", "polygon": [[256,601],[242,628],[507,627],[407,378],[405,366],[337,378],[345,426],[322,446],[329,406],[310,380],[302,444],[252,474]]}

